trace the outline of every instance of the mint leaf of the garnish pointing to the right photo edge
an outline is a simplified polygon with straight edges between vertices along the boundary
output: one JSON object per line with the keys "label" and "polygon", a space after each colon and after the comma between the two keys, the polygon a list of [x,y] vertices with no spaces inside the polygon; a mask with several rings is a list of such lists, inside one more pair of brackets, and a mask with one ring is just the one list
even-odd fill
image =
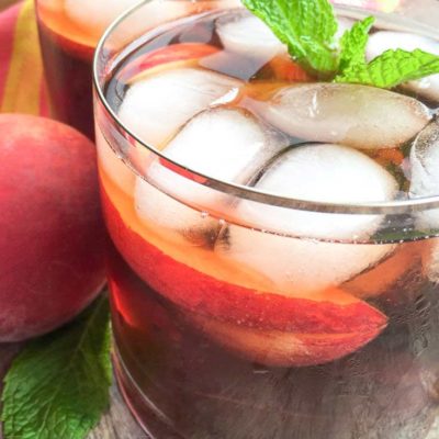
{"label": "mint leaf of the garnish pointing to the right photo edge", "polygon": [[384,52],[369,64],[349,66],[335,81],[389,89],[434,74],[439,74],[438,56],[419,49],[396,49]]}

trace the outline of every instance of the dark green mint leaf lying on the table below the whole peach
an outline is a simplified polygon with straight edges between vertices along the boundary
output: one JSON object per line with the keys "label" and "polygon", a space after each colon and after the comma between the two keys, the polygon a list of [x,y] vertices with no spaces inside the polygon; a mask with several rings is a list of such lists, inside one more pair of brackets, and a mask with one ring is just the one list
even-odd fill
{"label": "dark green mint leaf lying on the table below the whole peach", "polygon": [[5,439],[82,439],[109,406],[109,305],[98,299],[74,323],[31,341],[4,379]]}

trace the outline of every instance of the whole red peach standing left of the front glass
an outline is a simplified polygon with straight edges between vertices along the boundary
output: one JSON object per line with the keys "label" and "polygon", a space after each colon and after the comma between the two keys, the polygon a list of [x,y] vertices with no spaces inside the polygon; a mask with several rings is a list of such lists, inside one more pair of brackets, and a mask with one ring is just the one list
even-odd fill
{"label": "whole red peach standing left of the front glass", "polygon": [[48,119],[0,114],[0,341],[71,319],[104,281],[94,145]]}

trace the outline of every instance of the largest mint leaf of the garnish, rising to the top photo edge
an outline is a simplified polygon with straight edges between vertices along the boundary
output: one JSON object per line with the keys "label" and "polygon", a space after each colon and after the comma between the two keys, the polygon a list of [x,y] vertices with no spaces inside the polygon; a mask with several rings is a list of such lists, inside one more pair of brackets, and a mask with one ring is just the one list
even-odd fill
{"label": "largest mint leaf of the garnish, rising to the top photo edge", "polygon": [[243,0],[286,44],[290,55],[314,75],[331,77],[338,68],[334,44],[338,23],[328,0]]}

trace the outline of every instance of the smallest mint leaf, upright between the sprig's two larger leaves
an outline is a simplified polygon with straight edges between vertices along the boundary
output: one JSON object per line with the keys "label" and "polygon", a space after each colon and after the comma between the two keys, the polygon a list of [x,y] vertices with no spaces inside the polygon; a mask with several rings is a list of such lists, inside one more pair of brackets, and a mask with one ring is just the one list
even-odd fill
{"label": "smallest mint leaf, upright between the sprig's two larger leaves", "polygon": [[340,40],[340,67],[339,71],[354,65],[365,64],[365,46],[369,41],[369,32],[375,22],[374,16],[359,21],[346,31]]}

